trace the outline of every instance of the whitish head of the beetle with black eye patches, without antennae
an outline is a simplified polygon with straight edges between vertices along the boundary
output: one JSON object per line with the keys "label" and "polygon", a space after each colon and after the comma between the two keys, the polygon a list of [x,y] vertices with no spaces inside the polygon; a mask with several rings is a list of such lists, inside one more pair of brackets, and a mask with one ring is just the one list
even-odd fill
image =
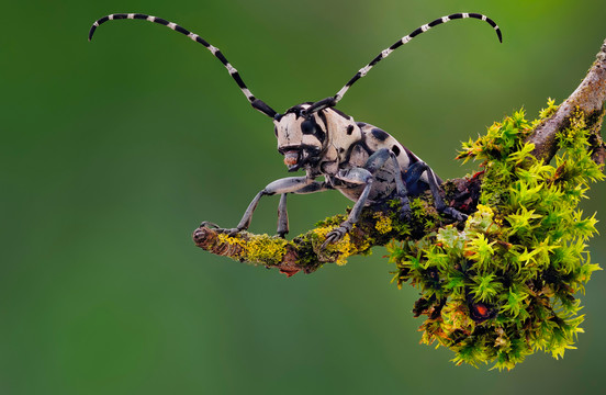
{"label": "whitish head of the beetle with black eye patches, without antennae", "polygon": [[295,105],[273,119],[278,151],[284,156],[289,171],[317,165],[326,146],[326,123],[317,113],[306,114],[308,106]]}

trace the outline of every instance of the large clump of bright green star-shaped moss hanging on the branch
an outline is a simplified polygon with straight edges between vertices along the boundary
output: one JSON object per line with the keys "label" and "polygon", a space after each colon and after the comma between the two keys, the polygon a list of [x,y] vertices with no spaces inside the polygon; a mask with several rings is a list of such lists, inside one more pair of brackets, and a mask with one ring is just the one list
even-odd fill
{"label": "large clump of bright green star-shaped moss hanging on the branch", "polygon": [[[550,100],[541,117],[556,109]],[[389,246],[395,282],[422,292],[414,309],[427,316],[422,341],[451,349],[457,364],[512,369],[537,350],[559,358],[582,332],[575,294],[599,267],[585,245],[595,215],[579,203],[604,174],[587,153],[580,113],[558,135],[552,165],[537,161],[524,140],[540,122],[519,111],[463,144],[459,158],[484,168],[480,205],[464,229],[445,226]]]}

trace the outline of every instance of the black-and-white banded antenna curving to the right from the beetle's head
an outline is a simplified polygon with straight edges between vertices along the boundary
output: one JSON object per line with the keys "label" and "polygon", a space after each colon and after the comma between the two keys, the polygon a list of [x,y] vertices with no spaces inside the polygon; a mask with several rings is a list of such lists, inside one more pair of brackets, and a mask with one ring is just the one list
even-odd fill
{"label": "black-and-white banded antenna curving to the right from the beetle's head", "polygon": [[465,19],[465,18],[474,18],[474,19],[479,19],[479,20],[482,20],[484,22],[487,22],[491,26],[493,26],[493,29],[495,30],[496,32],[496,35],[498,36],[498,41],[500,42],[503,42],[503,36],[501,34],[501,29],[498,29],[498,26],[496,25],[496,23],[490,19],[489,16],[486,15],[482,15],[482,14],[479,14],[479,13],[467,13],[467,12],[462,12],[462,13],[454,13],[454,14],[451,14],[451,15],[448,15],[448,16],[442,16],[442,18],[438,18],[437,20],[433,21],[433,22],[429,22],[427,24],[424,24],[423,26],[416,29],[414,32],[412,32],[411,34],[402,37],[401,40],[399,40],[397,42],[395,42],[392,46],[390,46],[389,48],[385,48],[383,49],[374,59],[372,59],[371,63],[369,63],[368,65],[366,65],[364,67],[362,67],[357,74],[356,76],[354,76],[354,78],[351,78],[349,80],[349,82],[347,82],[345,84],[345,87],[343,87],[338,92],[337,94],[335,94],[334,97],[330,97],[330,98],[326,98],[326,99],[323,99],[314,104],[312,104],[311,108],[307,109],[307,113],[312,113],[312,112],[316,112],[316,111],[319,111],[319,110],[323,110],[327,106],[334,106],[336,105],[339,100],[343,99],[343,97],[345,95],[345,93],[347,92],[347,90],[349,88],[351,88],[351,86],[357,81],[359,80],[360,78],[362,78],[363,76],[366,76],[368,74],[368,71],[370,71],[371,68],[374,67],[374,65],[377,65],[379,61],[383,60],[384,58],[386,58],[392,52],[394,52],[395,49],[397,49],[400,46],[402,46],[403,44],[406,44],[408,43],[411,40],[413,40],[414,37],[416,37],[417,35],[419,35],[420,33],[425,33],[427,32],[429,29],[431,27],[435,27],[439,24],[442,24],[442,23],[446,23],[446,22],[449,22],[449,21],[453,21],[453,20],[457,20],[457,19]]}

